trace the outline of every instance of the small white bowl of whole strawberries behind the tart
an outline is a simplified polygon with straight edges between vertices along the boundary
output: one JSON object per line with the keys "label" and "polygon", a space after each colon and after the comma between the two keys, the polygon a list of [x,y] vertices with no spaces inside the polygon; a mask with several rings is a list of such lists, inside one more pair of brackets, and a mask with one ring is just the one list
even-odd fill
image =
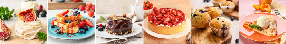
{"label": "small white bowl of whole strawberries behind the tart", "polygon": [[[150,13],[153,11],[155,7],[153,6],[152,3],[150,3],[149,1],[146,1],[143,3],[143,12],[144,12],[144,16],[148,16],[150,15]],[[156,9],[156,8],[155,8]]]}

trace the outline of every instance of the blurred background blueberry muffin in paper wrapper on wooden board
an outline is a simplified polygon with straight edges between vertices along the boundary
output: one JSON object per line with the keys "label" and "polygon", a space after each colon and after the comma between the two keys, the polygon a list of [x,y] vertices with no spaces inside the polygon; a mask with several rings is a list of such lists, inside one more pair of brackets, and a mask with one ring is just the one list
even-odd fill
{"label": "blurred background blueberry muffin in paper wrapper on wooden board", "polygon": [[221,10],[225,13],[233,12],[235,8],[235,4],[231,1],[225,1],[223,3],[219,3]]}

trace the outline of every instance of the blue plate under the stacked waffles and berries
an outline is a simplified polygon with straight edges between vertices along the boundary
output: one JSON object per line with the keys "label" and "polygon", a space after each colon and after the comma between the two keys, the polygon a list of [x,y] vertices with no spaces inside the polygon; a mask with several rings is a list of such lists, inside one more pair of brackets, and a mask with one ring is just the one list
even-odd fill
{"label": "blue plate under the stacked waffles and berries", "polygon": [[[84,17],[83,18],[87,18],[90,19],[88,17]],[[89,27],[88,26],[88,31],[86,31],[86,33],[75,33],[74,35],[69,34],[69,36],[72,37],[68,37],[67,33],[64,33],[63,35],[60,34],[56,34],[57,32],[55,32],[57,29],[60,29],[60,27],[55,27],[55,28],[51,28],[51,20],[56,19],[55,17],[48,19],[48,36],[51,36],[53,38],[57,38],[57,39],[84,39],[84,38],[88,38],[92,35],[95,34],[95,21],[93,19],[90,19],[90,21],[92,21],[94,27]],[[57,20],[57,19],[56,19]],[[80,28],[80,30],[84,30],[83,28]]]}

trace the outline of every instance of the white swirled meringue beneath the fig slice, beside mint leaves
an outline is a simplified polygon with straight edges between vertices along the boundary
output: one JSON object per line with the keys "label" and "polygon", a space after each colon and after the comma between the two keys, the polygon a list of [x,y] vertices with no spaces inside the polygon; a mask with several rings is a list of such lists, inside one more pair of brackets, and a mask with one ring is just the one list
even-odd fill
{"label": "white swirled meringue beneath the fig slice, beside mint leaves", "polygon": [[37,18],[36,21],[33,22],[25,22],[21,19],[18,19],[15,25],[15,36],[31,40],[34,38],[38,38],[37,32],[42,32],[42,29],[43,25],[41,23],[41,19],[39,18]]}

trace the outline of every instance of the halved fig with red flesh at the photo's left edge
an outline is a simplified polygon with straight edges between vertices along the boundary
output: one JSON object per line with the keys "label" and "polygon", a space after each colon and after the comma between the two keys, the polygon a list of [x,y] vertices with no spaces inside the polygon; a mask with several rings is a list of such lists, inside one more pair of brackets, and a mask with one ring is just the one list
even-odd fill
{"label": "halved fig with red flesh at the photo's left edge", "polygon": [[1,22],[0,39],[5,40],[9,38],[11,30],[2,22],[2,20],[0,20],[0,22]]}

